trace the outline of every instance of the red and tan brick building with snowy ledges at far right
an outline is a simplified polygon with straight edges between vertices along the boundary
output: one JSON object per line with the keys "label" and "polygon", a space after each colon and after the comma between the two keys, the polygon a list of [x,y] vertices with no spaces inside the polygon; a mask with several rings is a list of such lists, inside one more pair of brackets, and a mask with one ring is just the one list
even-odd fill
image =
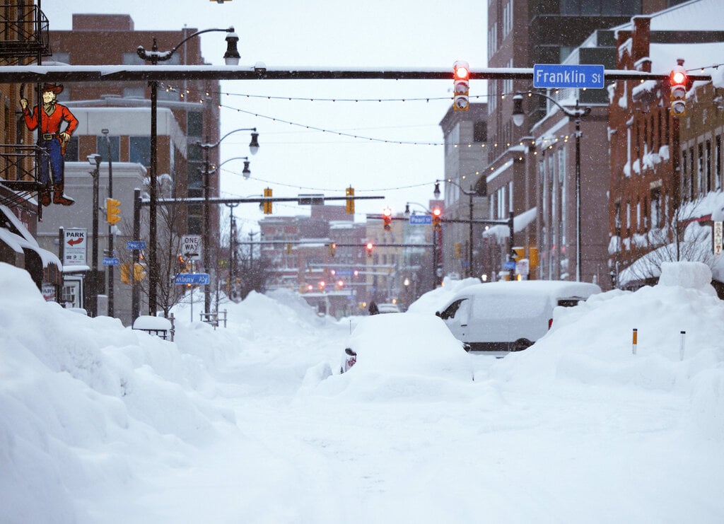
{"label": "red and tan brick building with snowy ledges at far right", "polygon": [[[699,0],[634,17],[617,31],[617,67],[668,74],[683,59],[685,69],[701,71],[724,51],[718,9],[715,0]],[[683,117],[670,114],[668,81],[610,88],[608,251],[620,286],[652,282],[674,255],[649,254],[672,242],[675,256],[700,256],[681,252],[683,229],[707,222],[711,210],[691,204],[722,187],[723,91],[717,83],[690,87]]]}

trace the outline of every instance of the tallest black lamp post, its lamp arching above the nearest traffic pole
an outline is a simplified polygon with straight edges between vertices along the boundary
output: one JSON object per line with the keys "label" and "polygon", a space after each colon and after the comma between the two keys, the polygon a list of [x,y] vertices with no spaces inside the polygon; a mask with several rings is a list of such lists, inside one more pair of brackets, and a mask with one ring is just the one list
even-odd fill
{"label": "tallest black lamp post, its lamp arching above the nearest traffic pole", "polygon": [[[152,65],[156,65],[159,62],[165,62],[169,60],[183,43],[188,41],[190,38],[201,35],[203,33],[211,33],[213,31],[222,31],[228,33],[226,37],[227,51],[224,54],[224,62],[227,65],[239,64],[239,51],[237,51],[237,42],[239,41],[238,35],[234,32],[234,28],[230,27],[227,29],[205,29],[197,31],[192,35],[184,38],[180,43],[177,44],[171,51],[159,51],[156,45],[156,38],[153,38],[153,47],[151,51],[146,51],[143,46],[138,46],[136,53],[141,59],[146,62],[151,62]],[[159,148],[158,148],[158,125],[157,125],[157,114],[158,114],[158,99],[159,99],[159,83],[157,80],[151,80],[149,82],[151,86],[151,166],[149,169],[150,189],[149,189],[149,206],[148,206],[148,312],[155,316],[156,315],[156,288],[159,284],[159,266],[156,258],[156,229],[157,229],[157,205],[158,205],[158,187],[156,182],[156,175],[158,171],[158,159],[159,159]]]}

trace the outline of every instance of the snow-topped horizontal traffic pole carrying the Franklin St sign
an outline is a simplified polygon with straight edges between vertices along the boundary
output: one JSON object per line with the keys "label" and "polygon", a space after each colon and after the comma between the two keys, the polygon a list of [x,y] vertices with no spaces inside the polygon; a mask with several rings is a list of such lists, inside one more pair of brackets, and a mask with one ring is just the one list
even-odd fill
{"label": "snow-topped horizontal traffic pole carrying the Franklin St sign", "polygon": [[[526,80],[532,67],[484,67],[470,72],[471,80]],[[666,80],[669,72],[650,73],[605,69],[613,80]],[[712,79],[691,75],[691,80]],[[0,83],[140,82],[180,80],[453,80],[452,66],[445,68],[341,68],[251,67],[214,65],[27,65],[0,67]]]}

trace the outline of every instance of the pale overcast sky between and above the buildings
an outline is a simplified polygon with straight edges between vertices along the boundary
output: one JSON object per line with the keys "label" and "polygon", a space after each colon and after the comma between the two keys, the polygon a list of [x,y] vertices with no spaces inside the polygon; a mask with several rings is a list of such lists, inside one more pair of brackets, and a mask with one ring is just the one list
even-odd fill
{"label": "pale overcast sky between and above the buildings", "polygon": [[[472,69],[487,65],[485,2],[278,0],[271,5],[248,0],[46,0],[41,7],[51,30],[69,30],[73,12],[130,14],[137,30],[233,25],[240,37],[242,65],[451,71],[460,59]],[[224,35],[200,38],[206,61],[223,64]],[[130,42],[129,50],[138,45],[150,48],[151,42]],[[242,161],[222,167],[222,195],[259,195],[271,187],[275,197],[343,196],[345,187],[352,185],[356,195],[384,197],[358,202],[357,221],[386,206],[397,213],[407,201],[426,204],[435,179],[445,177],[439,122],[450,108],[451,88],[452,81],[442,80],[224,81],[222,93],[228,94],[222,94],[222,134],[256,127],[261,147],[251,158],[251,179],[241,177]],[[471,96],[484,93],[483,81],[471,83]],[[408,100],[384,101],[403,98]],[[374,101],[363,101],[370,99]],[[248,156],[248,142],[248,134],[242,132],[226,138],[221,160]],[[274,205],[274,214],[307,213],[308,208],[292,204]],[[238,206],[235,215],[245,219],[245,230],[264,216],[248,204]]]}

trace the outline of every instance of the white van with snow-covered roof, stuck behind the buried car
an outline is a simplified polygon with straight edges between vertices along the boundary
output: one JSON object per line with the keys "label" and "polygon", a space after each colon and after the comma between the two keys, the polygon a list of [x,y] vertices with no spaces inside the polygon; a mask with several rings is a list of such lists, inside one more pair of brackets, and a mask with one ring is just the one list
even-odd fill
{"label": "white van with snow-covered roof, stuck behind the buried car", "polygon": [[552,280],[489,282],[464,287],[437,316],[471,351],[520,351],[542,337],[553,308],[601,292],[596,284]]}

